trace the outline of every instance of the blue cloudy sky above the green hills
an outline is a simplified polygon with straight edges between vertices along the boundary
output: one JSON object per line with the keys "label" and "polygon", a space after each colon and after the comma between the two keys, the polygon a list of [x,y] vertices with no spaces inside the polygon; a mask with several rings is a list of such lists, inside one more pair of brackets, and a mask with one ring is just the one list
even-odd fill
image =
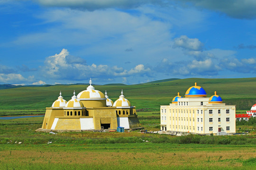
{"label": "blue cloudy sky above the green hills", "polygon": [[256,76],[255,0],[0,0],[0,84]]}

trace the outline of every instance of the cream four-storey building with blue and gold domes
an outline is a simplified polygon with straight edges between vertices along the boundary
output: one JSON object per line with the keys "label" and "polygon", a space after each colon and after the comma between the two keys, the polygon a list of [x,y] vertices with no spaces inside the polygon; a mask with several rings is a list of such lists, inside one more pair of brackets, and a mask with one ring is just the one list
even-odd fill
{"label": "cream four-storey building with blue and gold domes", "polygon": [[[222,103],[215,92],[210,98],[205,90],[190,87],[185,97],[174,97],[170,105],[161,106],[161,130],[201,135],[236,133],[236,106]],[[224,133],[225,132],[225,133]]]}

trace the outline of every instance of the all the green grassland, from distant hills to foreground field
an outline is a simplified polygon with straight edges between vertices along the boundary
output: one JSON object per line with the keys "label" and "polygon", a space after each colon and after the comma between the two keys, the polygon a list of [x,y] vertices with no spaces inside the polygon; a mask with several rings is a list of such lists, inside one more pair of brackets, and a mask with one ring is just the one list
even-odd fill
{"label": "all the green grassland, from distant hills to foreground field", "polygon": [[[137,108],[138,119],[147,131],[160,129],[160,105],[197,82],[208,97],[217,91],[227,104],[245,113],[256,103],[256,78],[171,79],[140,85],[95,85],[107,90],[115,101],[121,89]],[[0,90],[0,116],[44,114],[57,99],[65,100],[87,85],[20,87]],[[139,131],[35,132],[44,117],[0,120],[0,170],[255,170],[256,127],[237,125],[245,136],[171,136]],[[18,144],[21,142],[21,144]]]}

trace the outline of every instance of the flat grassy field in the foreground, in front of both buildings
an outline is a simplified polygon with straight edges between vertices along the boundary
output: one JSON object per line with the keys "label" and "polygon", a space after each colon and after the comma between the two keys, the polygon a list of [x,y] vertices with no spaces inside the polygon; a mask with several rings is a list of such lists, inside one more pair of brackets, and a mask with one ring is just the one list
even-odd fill
{"label": "flat grassy field in the foreground, in front of both buildings", "polygon": [[[54,135],[35,132],[42,121],[43,117],[0,120],[0,170],[256,168],[255,135],[170,136],[139,132]],[[150,130],[160,120],[149,116],[140,121]]]}

